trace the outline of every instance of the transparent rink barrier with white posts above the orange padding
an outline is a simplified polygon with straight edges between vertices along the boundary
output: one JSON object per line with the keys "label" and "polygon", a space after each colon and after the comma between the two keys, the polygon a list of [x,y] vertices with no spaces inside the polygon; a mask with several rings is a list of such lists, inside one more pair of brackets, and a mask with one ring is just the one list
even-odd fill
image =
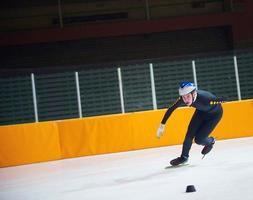
{"label": "transparent rink barrier with white posts above the orange padding", "polygon": [[[253,51],[0,78],[0,124],[166,108],[178,83],[230,100],[253,98]],[[30,79],[30,84],[28,83]],[[31,104],[31,102],[33,102]]]}

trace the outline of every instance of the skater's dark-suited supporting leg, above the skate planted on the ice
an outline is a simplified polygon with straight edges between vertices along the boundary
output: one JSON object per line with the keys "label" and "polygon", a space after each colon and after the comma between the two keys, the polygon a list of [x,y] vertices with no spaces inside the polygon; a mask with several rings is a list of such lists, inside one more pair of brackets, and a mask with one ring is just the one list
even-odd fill
{"label": "skater's dark-suited supporting leg, above the skate planted on the ice", "polygon": [[192,146],[192,140],[195,137],[196,133],[198,132],[198,129],[200,128],[202,124],[203,118],[202,118],[202,112],[195,111],[191,122],[188,126],[188,130],[184,139],[183,143],[183,149],[182,149],[182,157],[188,158],[189,157],[189,151]]}

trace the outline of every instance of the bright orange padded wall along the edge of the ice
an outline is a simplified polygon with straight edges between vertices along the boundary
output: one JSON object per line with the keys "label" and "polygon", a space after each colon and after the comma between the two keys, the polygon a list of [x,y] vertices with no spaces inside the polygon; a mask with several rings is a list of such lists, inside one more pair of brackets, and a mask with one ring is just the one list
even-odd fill
{"label": "bright orange padded wall along the edge of the ice", "polygon": [[[224,103],[223,108],[215,137],[253,136],[253,100]],[[181,144],[194,109],[175,110],[158,140],[165,111],[1,126],[0,167]]]}

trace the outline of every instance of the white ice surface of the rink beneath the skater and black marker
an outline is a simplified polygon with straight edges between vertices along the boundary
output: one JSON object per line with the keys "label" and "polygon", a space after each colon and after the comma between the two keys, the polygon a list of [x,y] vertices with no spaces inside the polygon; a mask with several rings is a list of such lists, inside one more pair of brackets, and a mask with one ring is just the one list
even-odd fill
{"label": "white ice surface of the rink beneath the skater and black marker", "polygon": [[0,199],[253,199],[253,137],[217,141],[203,160],[201,149],[193,144],[190,165],[170,169],[181,145],[0,168]]}

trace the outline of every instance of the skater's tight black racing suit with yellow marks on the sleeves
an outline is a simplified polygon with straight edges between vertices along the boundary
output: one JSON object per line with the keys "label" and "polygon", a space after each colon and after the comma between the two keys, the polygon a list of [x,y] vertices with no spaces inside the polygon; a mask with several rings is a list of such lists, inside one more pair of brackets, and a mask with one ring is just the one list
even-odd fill
{"label": "skater's tight black racing suit with yellow marks on the sleeves", "polygon": [[[191,105],[196,108],[196,110],[188,126],[181,156],[186,158],[189,157],[193,138],[195,142],[200,145],[210,145],[213,142],[213,138],[208,136],[222,117],[222,102],[223,99],[216,97],[208,91],[197,90],[197,98]],[[182,97],[179,97],[177,101],[168,108],[161,123],[165,124],[172,112],[181,104],[184,104],[184,101]]]}

